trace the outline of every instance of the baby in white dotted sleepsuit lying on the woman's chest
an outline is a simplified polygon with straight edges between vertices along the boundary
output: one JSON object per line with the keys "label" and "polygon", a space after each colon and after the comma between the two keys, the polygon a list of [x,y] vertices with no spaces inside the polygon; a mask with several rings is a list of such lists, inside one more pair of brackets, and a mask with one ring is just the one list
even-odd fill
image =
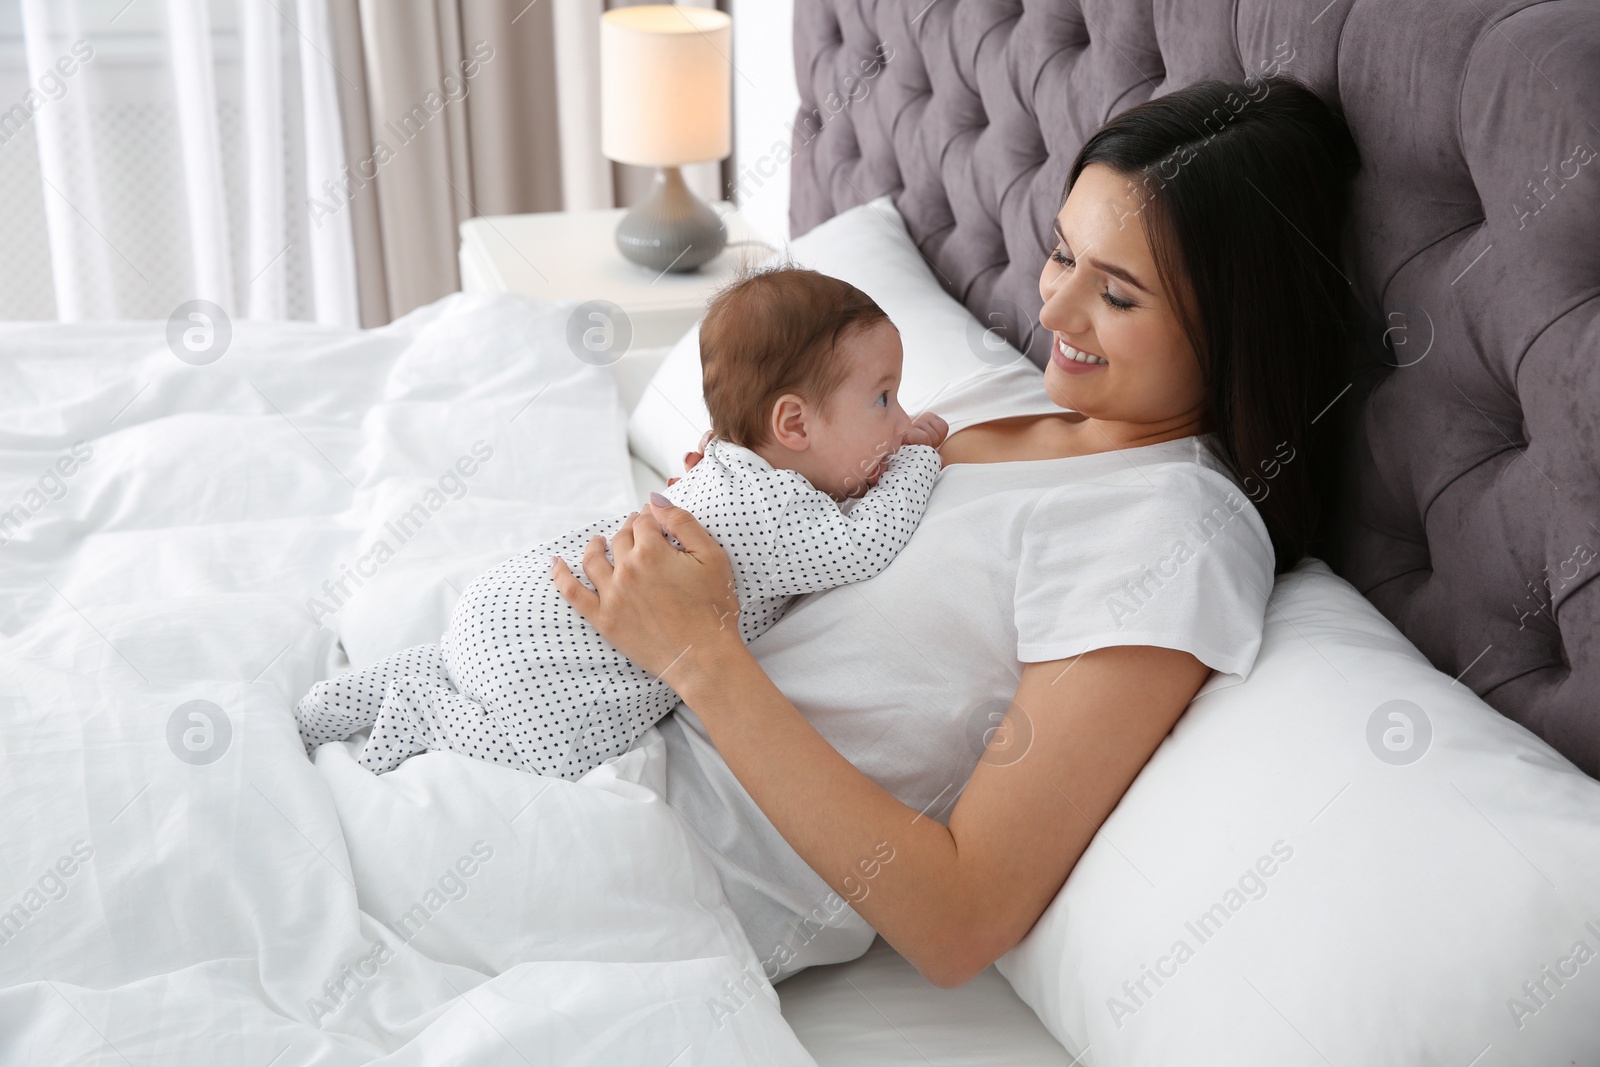
{"label": "baby in white dotted sleepsuit lying on the woman's chest", "polygon": [[[790,266],[741,274],[699,330],[712,438],[669,490],[728,552],[739,633],[766,632],[800,593],[872,577],[910,539],[949,427],[901,410],[899,331],[872,298]],[[541,544],[467,585],[438,645],[312,686],[294,717],[306,750],[373,731],[373,773],[448,749],[578,779],[678,697],[611,648],[550,581],[579,581],[584,547],[629,517]]]}

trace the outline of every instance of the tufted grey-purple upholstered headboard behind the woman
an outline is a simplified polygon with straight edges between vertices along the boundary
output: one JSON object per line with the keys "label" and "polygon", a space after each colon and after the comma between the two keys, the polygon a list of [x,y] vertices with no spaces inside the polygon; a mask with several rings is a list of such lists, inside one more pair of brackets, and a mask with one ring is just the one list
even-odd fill
{"label": "tufted grey-purple upholstered headboard behind the woman", "polygon": [[1067,168],[1112,114],[1274,64],[1341,110],[1381,366],[1336,402],[1330,555],[1600,777],[1600,3],[795,0],[794,48],[792,234],[893,194],[979,315],[1037,317]]}

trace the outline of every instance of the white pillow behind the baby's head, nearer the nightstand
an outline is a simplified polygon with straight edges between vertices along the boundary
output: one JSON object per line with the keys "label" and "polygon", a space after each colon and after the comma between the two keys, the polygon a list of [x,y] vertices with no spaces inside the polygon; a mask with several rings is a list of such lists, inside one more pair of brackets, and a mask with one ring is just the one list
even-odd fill
{"label": "white pillow behind the baby's head, nearer the nightstand", "polygon": [[[1000,333],[939,288],[890,197],[850,208],[790,242],[789,259],[850,282],[878,302],[901,331],[906,362],[901,405],[917,414],[947,382],[987,365],[1021,360]],[[768,262],[778,256],[768,258]],[[627,421],[635,456],[662,477],[683,474],[683,453],[710,429],[701,389],[699,323],[667,355]]]}

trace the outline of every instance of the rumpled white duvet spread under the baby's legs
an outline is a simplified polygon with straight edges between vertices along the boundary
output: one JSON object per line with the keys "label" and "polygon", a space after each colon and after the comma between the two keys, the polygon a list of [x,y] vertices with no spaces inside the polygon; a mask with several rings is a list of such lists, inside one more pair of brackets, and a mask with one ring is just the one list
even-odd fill
{"label": "rumpled white duvet spread under the baby's legs", "polygon": [[306,758],[310,683],[630,510],[560,304],[0,328],[0,1062],[811,1064],[659,734],[581,782]]}

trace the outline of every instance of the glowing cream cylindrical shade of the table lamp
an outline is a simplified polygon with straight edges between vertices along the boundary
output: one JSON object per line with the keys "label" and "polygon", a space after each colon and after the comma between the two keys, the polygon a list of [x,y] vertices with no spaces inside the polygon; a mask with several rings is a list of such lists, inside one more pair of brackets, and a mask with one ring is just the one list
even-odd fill
{"label": "glowing cream cylindrical shade of the table lamp", "polygon": [[733,19],[650,5],[600,18],[600,152],[680,166],[733,150]]}

